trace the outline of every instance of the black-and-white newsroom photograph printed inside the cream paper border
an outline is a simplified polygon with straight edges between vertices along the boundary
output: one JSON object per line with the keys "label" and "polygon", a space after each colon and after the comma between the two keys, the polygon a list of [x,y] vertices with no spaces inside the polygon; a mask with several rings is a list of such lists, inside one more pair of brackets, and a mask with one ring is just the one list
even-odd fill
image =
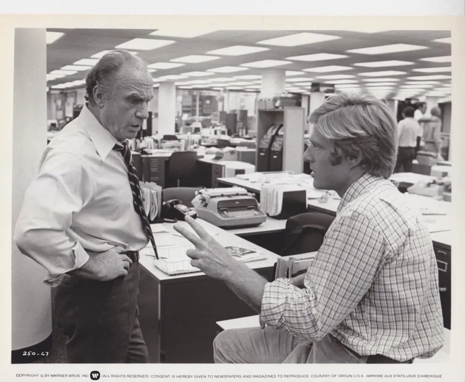
{"label": "black-and-white newsroom photograph printed inside the cream paper border", "polygon": [[15,28],[12,364],[451,362],[451,29],[332,20]]}

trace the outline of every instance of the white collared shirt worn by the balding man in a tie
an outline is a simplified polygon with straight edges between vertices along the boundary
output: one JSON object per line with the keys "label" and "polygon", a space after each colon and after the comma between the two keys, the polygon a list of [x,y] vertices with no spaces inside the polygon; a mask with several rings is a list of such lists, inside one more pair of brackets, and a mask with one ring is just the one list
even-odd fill
{"label": "white collared shirt worn by the balding man in a tie", "polygon": [[85,106],[46,147],[13,236],[22,253],[47,269],[46,284],[84,265],[86,250],[146,246],[126,164],[113,150],[117,142]]}

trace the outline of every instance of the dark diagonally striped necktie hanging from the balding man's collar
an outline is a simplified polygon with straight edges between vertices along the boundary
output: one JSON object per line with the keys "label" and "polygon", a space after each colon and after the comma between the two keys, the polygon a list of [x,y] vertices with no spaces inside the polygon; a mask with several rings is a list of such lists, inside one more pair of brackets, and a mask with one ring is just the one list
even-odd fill
{"label": "dark diagonally striped necktie hanging from the balding man's collar", "polygon": [[120,152],[123,156],[124,162],[126,163],[127,177],[129,178],[129,185],[131,186],[131,191],[133,193],[134,210],[140,216],[140,220],[142,221],[142,228],[148,235],[153,250],[155,251],[155,257],[158,259],[157,246],[155,245],[155,239],[153,239],[152,228],[150,227],[144,205],[142,204],[142,190],[140,189],[139,178],[136,175],[136,169],[133,166],[131,150],[127,147],[126,142],[123,142],[122,145],[123,146],[115,144],[113,146],[113,150]]}

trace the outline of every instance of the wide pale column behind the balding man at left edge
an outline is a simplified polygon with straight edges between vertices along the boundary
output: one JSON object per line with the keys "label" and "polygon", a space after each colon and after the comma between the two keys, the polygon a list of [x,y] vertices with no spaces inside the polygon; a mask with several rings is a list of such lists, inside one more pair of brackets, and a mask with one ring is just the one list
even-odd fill
{"label": "wide pale column behind the balding man at left edge", "polygon": [[[14,32],[13,228],[26,188],[38,172],[47,143],[45,29]],[[12,243],[12,350],[40,343],[52,333],[46,270]]]}

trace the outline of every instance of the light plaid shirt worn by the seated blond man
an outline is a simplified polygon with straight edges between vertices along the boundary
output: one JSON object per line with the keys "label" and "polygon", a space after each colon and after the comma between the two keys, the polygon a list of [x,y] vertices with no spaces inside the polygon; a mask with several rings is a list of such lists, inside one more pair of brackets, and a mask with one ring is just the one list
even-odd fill
{"label": "light plaid shirt worn by the seated blond man", "polygon": [[349,187],[304,285],[267,283],[262,320],[312,341],[331,333],[362,356],[398,361],[429,358],[443,345],[430,233],[389,180],[365,174]]}

